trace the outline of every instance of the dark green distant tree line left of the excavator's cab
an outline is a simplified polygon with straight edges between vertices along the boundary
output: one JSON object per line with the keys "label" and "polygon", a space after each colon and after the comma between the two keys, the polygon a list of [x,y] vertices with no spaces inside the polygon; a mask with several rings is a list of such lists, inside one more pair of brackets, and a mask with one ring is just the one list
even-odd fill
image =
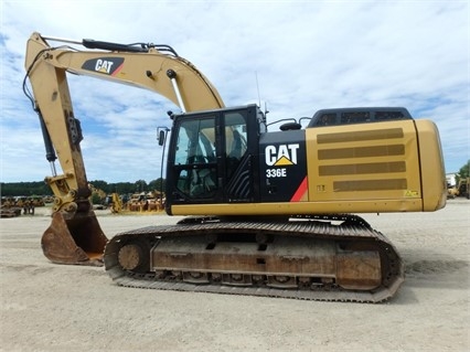
{"label": "dark green distant tree line left of the excavator's cab", "polygon": [[[89,181],[93,188],[102,190],[103,192],[119,193],[119,194],[133,194],[151,191],[164,191],[164,179],[157,179],[147,183],[145,180],[136,182],[117,182],[108,183],[103,180]],[[32,196],[32,195],[53,195],[51,188],[44,181],[32,182],[0,182],[1,196]]]}

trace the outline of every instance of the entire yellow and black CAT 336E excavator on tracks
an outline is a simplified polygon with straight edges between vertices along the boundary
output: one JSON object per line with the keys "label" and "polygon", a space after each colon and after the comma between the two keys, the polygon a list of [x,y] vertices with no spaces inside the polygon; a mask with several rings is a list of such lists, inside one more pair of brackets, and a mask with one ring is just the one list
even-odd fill
{"label": "entire yellow and black CAT 336E excavator on tracks", "polygon": [[[33,33],[25,68],[23,89],[53,170],[43,252],[60,264],[104,263],[121,286],[384,301],[404,280],[403,262],[354,213],[434,212],[446,204],[437,127],[405,108],[322,109],[307,127],[286,119],[268,131],[258,106],[225,107],[169,45]],[[147,88],[180,107],[170,115],[164,204],[182,221],[104,235],[88,201],[67,73]]]}

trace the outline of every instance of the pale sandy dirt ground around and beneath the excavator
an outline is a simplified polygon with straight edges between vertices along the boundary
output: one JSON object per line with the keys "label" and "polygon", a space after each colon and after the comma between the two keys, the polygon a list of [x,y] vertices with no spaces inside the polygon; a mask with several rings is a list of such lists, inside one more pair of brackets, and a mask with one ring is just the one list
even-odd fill
{"label": "pale sandy dirt ground around and beneath the excavator", "polygon": [[[104,268],[55,265],[50,211],[0,220],[0,351],[470,351],[470,201],[362,215],[396,245],[406,280],[363,305],[122,288]],[[108,237],[165,215],[98,211]]]}

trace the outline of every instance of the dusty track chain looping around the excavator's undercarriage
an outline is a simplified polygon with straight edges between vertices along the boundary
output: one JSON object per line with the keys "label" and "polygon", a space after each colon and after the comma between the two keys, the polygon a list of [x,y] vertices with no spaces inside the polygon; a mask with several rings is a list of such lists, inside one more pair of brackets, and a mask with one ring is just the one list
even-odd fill
{"label": "dusty track chain looping around the excavator's undercarriage", "polygon": [[[278,297],[303,300],[321,301],[352,301],[352,302],[383,302],[392,298],[404,281],[403,262],[392,243],[380,232],[361,217],[355,215],[345,216],[314,216],[317,220],[349,221],[352,225],[338,226],[318,221],[291,221],[287,223],[271,222],[203,222],[201,218],[186,220],[183,224],[149,226],[117,234],[105,248],[104,263],[106,271],[113,280],[126,287],[213,292],[226,295],[245,295],[261,297]],[[202,223],[200,223],[202,222]],[[212,231],[217,232],[266,232],[269,234],[287,236],[308,236],[332,241],[373,241],[378,245],[382,265],[386,265],[386,278],[383,285],[373,291],[353,291],[341,288],[334,289],[279,289],[270,287],[241,287],[224,286],[220,284],[186,284],[183,281],[158,280],[153,273],[138,274],[124,270],[118,264],[118,252],[121,244],[129,239],[146,237],[156,241],[162,236],[197,236],[205,235]]]}

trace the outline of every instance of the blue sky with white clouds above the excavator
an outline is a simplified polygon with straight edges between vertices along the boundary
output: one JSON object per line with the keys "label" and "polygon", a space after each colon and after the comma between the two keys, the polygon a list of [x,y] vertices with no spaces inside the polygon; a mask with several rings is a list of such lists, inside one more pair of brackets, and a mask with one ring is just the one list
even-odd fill
{"label": "blue sky with white clouds above the excavator", "polygon": [[[446,171],[469,159],[469,1],[3,1],[0,181],[51,174],[22,93],[32,32],[169,44],[226,106],[261,102],[268,121],[332,107],[404,106],[440,130]],[[258,95],[259,87],[259,95]],[[70,77],[89,181],[160,178],[165,98]],[[58,168],[58,163],[57,163]]]}

